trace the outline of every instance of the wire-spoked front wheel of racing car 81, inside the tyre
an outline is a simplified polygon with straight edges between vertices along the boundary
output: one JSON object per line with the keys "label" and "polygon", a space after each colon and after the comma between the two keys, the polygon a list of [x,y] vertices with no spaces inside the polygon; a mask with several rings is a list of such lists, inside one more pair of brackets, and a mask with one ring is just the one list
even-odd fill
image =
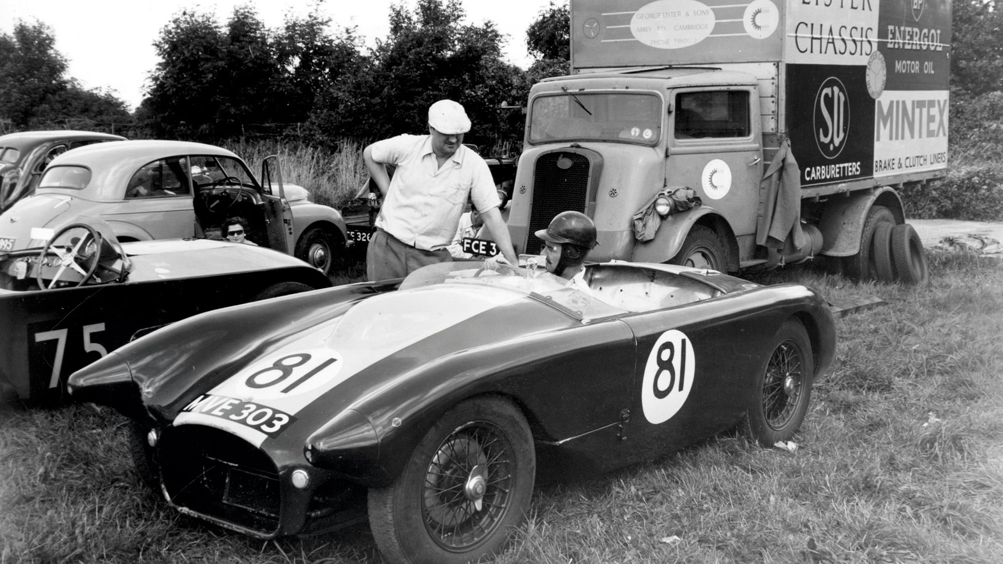
{"label": "wire-spoked front wheel of racing car 81, inside the tyre", "polygon": [[474,421],[454,431],[425,473],[422,517],[447,550],[468,550],[489,537],[511,502],[508,445],[497,429]]}

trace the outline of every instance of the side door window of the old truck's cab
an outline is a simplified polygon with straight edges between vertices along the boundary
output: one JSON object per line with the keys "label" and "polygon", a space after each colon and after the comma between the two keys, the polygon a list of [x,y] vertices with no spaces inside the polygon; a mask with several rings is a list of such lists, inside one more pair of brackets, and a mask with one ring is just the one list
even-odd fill
{"label": "side door window of the old truck's cab", "polygon": [[736,90],[680,92],[676,95],[675,137],[746,137],[749,93]]}

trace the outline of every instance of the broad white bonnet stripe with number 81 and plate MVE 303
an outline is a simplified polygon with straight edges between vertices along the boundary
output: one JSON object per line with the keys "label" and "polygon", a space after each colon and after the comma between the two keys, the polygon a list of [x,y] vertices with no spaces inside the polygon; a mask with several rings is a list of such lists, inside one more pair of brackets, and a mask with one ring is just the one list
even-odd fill
{"label": "broad white bonnet stripe with number 81 and plate MVE 303", "polygon": [[[513,318],[527,321],[517,328],[508,322]],[[336,413],[435,358],[572,323],[577,321],[498,288],[436,285],[374,296],[237,367],[190,400],[174,425],[222,429],[260,447],[315,401]],[[493,334],[485,334],[492,326]]]}

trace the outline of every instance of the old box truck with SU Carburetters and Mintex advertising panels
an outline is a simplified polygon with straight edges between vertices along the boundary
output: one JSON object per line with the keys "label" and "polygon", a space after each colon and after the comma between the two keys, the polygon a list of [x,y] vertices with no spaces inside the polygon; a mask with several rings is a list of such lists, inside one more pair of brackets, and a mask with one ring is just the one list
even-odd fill
{"label": "old box truck with SU Carburetters and Mintex advertising panels", "polygon": [[950,39],[950,0],[571,0],[571,74],[527,104],[517,251],[578,210],[590,260],[923,283],[901,192],[947,173]]}

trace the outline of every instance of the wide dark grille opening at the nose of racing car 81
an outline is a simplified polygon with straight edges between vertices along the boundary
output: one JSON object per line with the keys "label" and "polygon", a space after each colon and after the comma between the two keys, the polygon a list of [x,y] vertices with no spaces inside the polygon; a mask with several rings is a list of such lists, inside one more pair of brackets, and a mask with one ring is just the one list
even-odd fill
{"label": "wide dark grille opening at the nose of racing car 81", "polygon": [[203,515],[272,534],[279,527],[279,475],[271,460],[220,430],[164,430],[158,458],[171,501]]}

